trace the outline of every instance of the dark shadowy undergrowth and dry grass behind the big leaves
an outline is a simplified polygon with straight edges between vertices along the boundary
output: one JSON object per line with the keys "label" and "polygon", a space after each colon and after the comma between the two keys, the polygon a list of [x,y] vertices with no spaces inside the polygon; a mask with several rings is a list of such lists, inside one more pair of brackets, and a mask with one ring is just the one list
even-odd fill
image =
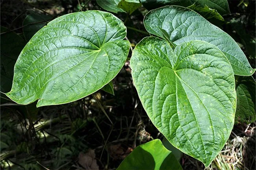
{"label": "dark shadowy undergrowth and dry grass behind the big leaves", "polygon": [[[255,0],[228,2],[231,15],[224,16],[226,24],[219,27],[236,40],[255,68]],[[22,23],[31,10],[53,18],[77,11],[104,11],[96,1],[89,0],[1,0],[0,5],[1,26],[22,38]],[[146,13],[147,10],[141,7],[130,16],[115,14],[128,27],[127,38],[133,48],[148,36],[143,33]],[[7,33],[4,32],[1,30],[0,48],[5,48],[2,37]],[[1,49],[1,61],[4,57]],[[139,144],[163,139],[139,101],[129,62],[113,83],[114,96],[99,90],[75,102],[41,108],[35,108],[35,103],[20,106],[1,95],[1,168],[115,169]],[[207,169],[255,170],[255,127],[255,122],[234,126],[223,151]],[[202,163],[185,154],[180,164],[184,170],[204,169]]]}

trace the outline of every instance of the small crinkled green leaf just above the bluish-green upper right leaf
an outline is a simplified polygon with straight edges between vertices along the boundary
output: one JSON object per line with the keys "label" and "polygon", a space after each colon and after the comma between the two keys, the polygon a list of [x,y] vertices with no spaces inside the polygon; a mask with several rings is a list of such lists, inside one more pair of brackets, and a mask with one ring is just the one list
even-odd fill
{"label": "small crinkled green leaf just above the bluish-green upper right leaf", "polygon": [[206,5],[202,6],[193,4],[187,8],[199,13],[202,17],[206,18],[206,20],[215,26],[221,26],[225,23],[224,18],[215,9],[211,9]]}

